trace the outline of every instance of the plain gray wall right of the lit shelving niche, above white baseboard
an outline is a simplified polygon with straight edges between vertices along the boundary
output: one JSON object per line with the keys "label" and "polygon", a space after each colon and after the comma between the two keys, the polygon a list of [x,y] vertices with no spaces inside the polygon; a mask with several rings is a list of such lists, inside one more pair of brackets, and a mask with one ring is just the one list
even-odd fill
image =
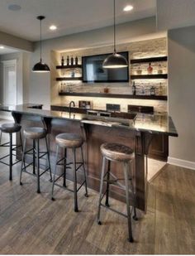
{"label": "plain gray wall right of the lit shelving niche, above white baseboard", "polygon": [[168,33],[169,115],[178,138],[169,139],[169,157],[195,162],[195,27]]}

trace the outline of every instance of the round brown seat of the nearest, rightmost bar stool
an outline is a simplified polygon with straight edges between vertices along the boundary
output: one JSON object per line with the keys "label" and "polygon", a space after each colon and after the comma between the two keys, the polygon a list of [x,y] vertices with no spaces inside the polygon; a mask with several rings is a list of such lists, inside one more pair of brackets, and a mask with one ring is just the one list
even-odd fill
{"label": "round brown seat of the nearest, rightmost bar stool", "polygon": [[131,147],[117,143],[104,143],[100,149],[104,157],[113,161],[130,161],[135,157]]}

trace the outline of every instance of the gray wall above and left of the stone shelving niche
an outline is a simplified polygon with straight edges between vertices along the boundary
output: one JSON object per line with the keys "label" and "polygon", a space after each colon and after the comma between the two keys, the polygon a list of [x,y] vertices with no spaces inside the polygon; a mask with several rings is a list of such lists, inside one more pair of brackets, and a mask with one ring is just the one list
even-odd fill
{"label": "gray wall above and left of the stone shelving niche", "polygon": [[[127,22],[117,26],[117,43],[131,41],[132,38],[155,33],[155,17],[146,18],[136,22]],[[113,27],[87,31],[69,36],[43,41],[43,60],[50,66],[51,51],[70,51],[95,46],[111,45],[113,40]],[[31,68],[40,59],[39,43],[35,44],[35,51],[31,55]],[[50,106],[50,74],[30,73],[29,102]]]}

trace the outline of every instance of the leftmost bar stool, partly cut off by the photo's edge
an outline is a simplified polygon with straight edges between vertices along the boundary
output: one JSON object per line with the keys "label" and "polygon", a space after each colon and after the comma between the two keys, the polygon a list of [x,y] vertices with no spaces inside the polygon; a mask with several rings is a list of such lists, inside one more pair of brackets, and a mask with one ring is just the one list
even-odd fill
{"label": "leftmost bar stool, partly cut off by the photo's edge", "polygon": [[[13,133],[20,133],[20,139],[21,139],[21,125],[19,125],[17,123],[3,123],[0,126],[0,131],[1,131],[1,134],[0,134],[1,141],[2,141],[2,133],[8,133],[9,134],[9,142],[5,142],[5,143],[2,143],[0,145],[0,147],[9,147],[9,154],[7,154],[4,157],[1,157],[0,162],[9,167],[9,180],[12,181],[12,167],[15,164],[17,164],[18,162],[21,161],[21,160],[18,160],[16,162],[13,162],[12,157],[16,156],[16,154],[13,153],[13,152],[16,152],[18,147],[21,147],[21,151],[22,151],[22,142],[21,142],[20,145],[13,144],[12,134]],[[7,157],[9,157],[9,163],[3,162],[2,159],[5,159]]]}

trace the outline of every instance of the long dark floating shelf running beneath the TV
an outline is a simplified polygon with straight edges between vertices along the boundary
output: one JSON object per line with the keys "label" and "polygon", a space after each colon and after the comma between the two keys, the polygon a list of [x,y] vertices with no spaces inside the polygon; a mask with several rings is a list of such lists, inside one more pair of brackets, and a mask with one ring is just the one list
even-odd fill
{"label": "long dark floating shelf running beneath the TV", "polygon": [[59,93],[60,96],[85,96],[85,97],[102,97],[102,98],[120,98],[120,99],[157,99],[167,100],[163,95],[132,95],[132,94],[98,94],[98,93]]}

